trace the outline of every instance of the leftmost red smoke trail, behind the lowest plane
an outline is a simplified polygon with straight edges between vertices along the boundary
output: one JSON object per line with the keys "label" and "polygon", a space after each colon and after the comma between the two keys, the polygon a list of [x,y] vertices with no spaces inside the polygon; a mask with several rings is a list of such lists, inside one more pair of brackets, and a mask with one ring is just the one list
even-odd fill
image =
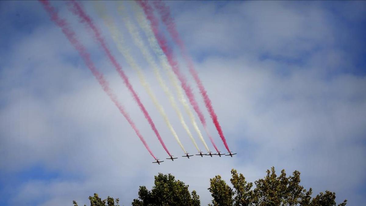
{"label": "leftmost red smoke trail, behind the lowest plane", "polygon": [[51,20],[56,23],[57,26],[59,26],[62,30],[62,32],[65,34],[67,39],[70,41],[70,43],[75,47],[75,49],[79,52],[79,55],[84,60],[86,66],[90,69],[91,73],[93,73],[94,77],[98,80],[99,84],[103,88],[104,92],[107,93],[109,98],[111,98],[112,102],[115,103],[115,105],[118,107],[119,111],[122,113],[122,115],[127,119],[128,123],[130,123],[132,129],[135,130],[137,136],[142,141],[143,145],[146,147],[147,151],[149,151],[150,155],[153,156],[154,159],[156,157],[154,156],[153,152],[150,150],[149,146],[145,142],[145,139],[143,139],[140,131],[136,128],[135,123],[130,118],[130,115],[124,110],[123,106],[118,102],[116,95],[113,93],[111,88],[109,88],[108,82],[105,80],[103,74],[99,73],[97,71],[93,61],[90,59],[90,54],[87,53],[85,47],[76,39],[75,32],[70,29],[70,26],[65,21],[65,19],[60,19],[57,11],[54,7],[52,7],[47,0],[40,0],[41,4],[44,6],[45,10],[48,12],[48,14],[51,17]]}

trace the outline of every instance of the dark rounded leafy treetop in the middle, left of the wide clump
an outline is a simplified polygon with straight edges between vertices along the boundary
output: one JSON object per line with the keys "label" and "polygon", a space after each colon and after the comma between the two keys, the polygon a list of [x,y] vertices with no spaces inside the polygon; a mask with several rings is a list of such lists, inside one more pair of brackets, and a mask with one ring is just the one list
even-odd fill
{"label": "dark rounded leafy treetop in the middle, left of the wide clump", "polygon": [[152,190],[149,191],[145,186],[140,186],[138,195],[138,199],[132,201],[132,206],[200,205],[196,191],[190,193],[188,185],[175,180],[171,174],[159,173],[155,176]]}

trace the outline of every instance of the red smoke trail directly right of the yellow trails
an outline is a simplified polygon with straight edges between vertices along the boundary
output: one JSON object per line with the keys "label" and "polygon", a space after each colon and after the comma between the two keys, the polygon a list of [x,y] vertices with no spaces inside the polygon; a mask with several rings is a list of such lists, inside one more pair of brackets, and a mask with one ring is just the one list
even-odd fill
{"label": "red smoke trail directly right of the yellow trails", "polygon": [[155,35],[161,49],[163,50],[164,54],[167,56],[168,62],[171,65],[174,73],[178,77],[180,84],[182,85],[182,88],[188,97],[189,102],[193,106],[194,111],[196,111],[196,113],[199,117],[199,120],[201,121],[203,128],[205,129],[207,135],[209,136],[213,147],[215,148],[216,151],[219,151],[216,147],[216,144],[214,143],[214,141],[212,139],[212,136],[208,133],[206,119],[198,107],[198,104],[194,98],[192,89],[191,89],[190,85],[188,85],[188,83],[187,83],[186,77],[184,77],[184,75],[182,73],[180,73],[178,62],[175,59],[175,56],[173,55],[171,48],[169,48],[166,38],[163,36],[163,34],[159,33],[159,29],[158,29],[159,22],[158,22],[158,19],[153,14],[153,8],[148,4],[147,1],[136,1],[136,2],[142,7],[147,19],[149,19],[152,30],[154,32],[154,35]]}

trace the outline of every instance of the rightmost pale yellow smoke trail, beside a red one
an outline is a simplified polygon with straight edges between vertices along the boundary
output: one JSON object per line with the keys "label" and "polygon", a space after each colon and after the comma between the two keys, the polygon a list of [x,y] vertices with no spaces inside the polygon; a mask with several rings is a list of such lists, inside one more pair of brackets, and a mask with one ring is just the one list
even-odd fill
{"label": "rightmost pale yellow smoke trail, beside a red one", "polygon": [[150,25],[147,22],[145,14],[143,13],[141,8],[136,3],[133,4],[133,8],[134,8],[134,11],[135,11],[134,13],[136,15],[136,19],[137,19],[137,22],[138,22],[139,26],[145,32],[145,34],[147,36],[147,39],[149,41],[150,47],[152,47],[152,49],[154,50],[154,52],[158,56],[162,67],[164,68],[165,72],[168,74],[169,80],[171,81],[171,83],[173,84],[173,86],[176,90],[176,93],[178,95],[178,99],[179,99],[180,103],[183,104],[184,110],[188,114],[188,116],[189,116],[189,118],[192,122],[192,125],[193,125],[195,131],[198,134],[199,139],[202,141],[202,143],[205,146],[206,150],[210,151],[207,144],[206,144],[206,142],[205,142],[205,140],[202,137],[201,131],[198,128],[198,125],[197,125],[197,123],[195,121],[195,118],[194,118],[194,115],[193,115],[193,113],[192,113],[192,111],[191,111],[191,109],[190,109],[190,107],[187,103],[187,100],[184,98],[182,88],[180,88],[180,86],[179,86],[178,80],[176,79],[176,77],[175,77],[175,75],[172,71],[172,68],[168,63],[167,57],[165,56],[163,50],[160,48],[160,46],[159,46],[159,44],[158,44],[158,42],[157,42],[157,40],[154,36],[154,33],[152,32],[152,30],[150,28]]}

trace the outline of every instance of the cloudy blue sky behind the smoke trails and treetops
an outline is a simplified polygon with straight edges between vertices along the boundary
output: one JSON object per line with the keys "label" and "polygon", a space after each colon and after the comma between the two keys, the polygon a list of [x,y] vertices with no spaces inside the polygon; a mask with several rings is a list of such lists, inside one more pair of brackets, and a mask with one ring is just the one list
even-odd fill
{"label": "cloudy blue sky behind the smoke trails and treetops", "polygon": [[[93,193],[130,205],[139,186],[151,189],[158,173],[173,174],[207,205],[212,200],[210,178],[219,174],[230,185],[234,168],[254,182],[272,166],[288,175],[299,170],[302,185],[313,188],[314,195],[330,190],[338,203],[366,201],[365,1],[167,1],[227,143],[238,153],[233,158],[190,159],[180,157],[182,150],[137,73],[118,52],[94,3],[80,3],[102,31],[169,151],[179,158],[151,163],[126,119],[39,2],[0,1],[0,205],[61,206],[72,200],[83,205]],[[124,4],[136,23],[134,3]],[[91,30],[66,3],[52,5],[72,25],[154,154],[166,158]],[[115,3],[105,5],[182,144],[194,154],[197,150]],[[177,45],[168,40],[215,143],[225,151]],[[168,82],[165,74],[164,79]]]}

